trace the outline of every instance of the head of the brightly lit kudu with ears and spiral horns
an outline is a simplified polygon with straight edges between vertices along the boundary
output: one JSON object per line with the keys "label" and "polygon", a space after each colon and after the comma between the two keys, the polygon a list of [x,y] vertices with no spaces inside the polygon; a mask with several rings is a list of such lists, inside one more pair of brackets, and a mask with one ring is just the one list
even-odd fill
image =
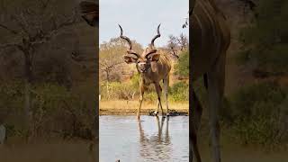
{"label": "head of the brightly lit kudu with ears and spiral horns", "polygon": [[156,63],[160,58],[160,54],[154,47],[154,40],[160,37],[160,24],[157,27],[157,35],[151,40],[150,46],[146,48],[141,55],[132,50],[132,44],[130,39],[122,35],[122,28],[120,25],[119,27],[121,29],[121,39],[127,40],[130,45],[129,49],[127,49],[127,54],[124,56],[124,61],[127,64],[136,63],[136,67],[140,73],[147,72],[150,69],[151,64]]}

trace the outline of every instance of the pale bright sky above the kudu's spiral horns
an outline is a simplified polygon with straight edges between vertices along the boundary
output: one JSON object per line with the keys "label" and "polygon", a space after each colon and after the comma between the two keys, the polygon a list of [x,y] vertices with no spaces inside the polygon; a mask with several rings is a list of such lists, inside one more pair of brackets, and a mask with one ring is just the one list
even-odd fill
{"label": "pale bright sky above the kudu's spiral horns", "polygon": [[157,25],[161,23],[161,37],[155,40],[155,46],[164,46],[168,36],[180,33],[189,35],[188,28],[182,28],[188,16],[188,0],[99,0],[100,43],[123,35],[136,40],[143,47],[157,34]]}

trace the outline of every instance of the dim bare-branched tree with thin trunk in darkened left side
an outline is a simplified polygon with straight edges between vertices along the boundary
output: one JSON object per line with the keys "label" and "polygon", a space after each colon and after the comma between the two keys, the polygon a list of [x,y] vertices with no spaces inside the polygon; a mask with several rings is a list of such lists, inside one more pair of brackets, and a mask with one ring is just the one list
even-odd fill
{"label": "dim bare-branched tree with thin trunk in darkened left side", "polygon": [[3,40],[0,41],[0,50],[16,49],[23,55],[24,112],[29,128],[33,62],[37,49],[77,23],[79,16],[75,8],[67,6],[67,2],[63,1],[2,0],[1,4],[0,32],[3,33]]}

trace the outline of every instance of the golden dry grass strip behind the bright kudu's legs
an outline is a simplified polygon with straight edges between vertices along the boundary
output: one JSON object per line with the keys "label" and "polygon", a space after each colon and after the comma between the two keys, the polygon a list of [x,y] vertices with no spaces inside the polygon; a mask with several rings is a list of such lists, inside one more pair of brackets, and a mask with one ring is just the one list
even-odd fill
{"label": "golden dry grass strip behind the bright kudu's legs", "polygon": [[[164,104],[164,103],[162,103]],[[125,100],[115,100],[115,101],[101,101],[100,102],[100,115],[107,114],[136,114],[137,109],[139,107],[139,101],[127,101]],[[143,101],[141,107],[141,114],[147,114],[148,112],[152,112],[156,109],[157,103],[148,103]],[[165,106],[164,106],[165,107]],[[189,103],[181,102],[181,103],[169,103],[169,110],[175,110],[176,112],[188,112]],[[164,108],[164,111],[166,108]]]}

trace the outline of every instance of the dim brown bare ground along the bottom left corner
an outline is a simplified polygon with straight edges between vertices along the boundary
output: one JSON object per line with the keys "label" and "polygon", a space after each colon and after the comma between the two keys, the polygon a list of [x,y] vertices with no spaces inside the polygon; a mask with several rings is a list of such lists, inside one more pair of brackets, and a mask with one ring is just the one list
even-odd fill
{"label": "dim brown bare ground along the bottom left corner", "polygon": [[[93,146],[95,147],[95,146]],[[3,162],[93,162],[96,148],[83,140],[37,139],[31,143],[7,143],[0,145],[0,161]]]}

